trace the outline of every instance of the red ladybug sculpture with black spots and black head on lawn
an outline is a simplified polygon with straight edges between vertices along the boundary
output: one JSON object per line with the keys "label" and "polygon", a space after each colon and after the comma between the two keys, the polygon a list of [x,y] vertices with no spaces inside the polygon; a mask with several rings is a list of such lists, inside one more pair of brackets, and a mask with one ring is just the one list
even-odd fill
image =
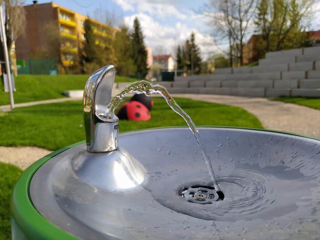
{"label": "red ladybug sculpture with black spots and black head on lawn", "polygon": [[126,102],[116,115],[119,119],[131,121],[148,121],[151,118],[148,108],[138,101]]}

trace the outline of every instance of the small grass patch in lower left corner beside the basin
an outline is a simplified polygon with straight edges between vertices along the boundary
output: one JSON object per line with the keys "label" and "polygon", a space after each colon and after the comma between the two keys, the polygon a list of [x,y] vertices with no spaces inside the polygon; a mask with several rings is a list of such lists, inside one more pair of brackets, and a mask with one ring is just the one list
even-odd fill
{"label": "small grass patch in lower left corner beside the basin", "polygon": [[0,163],[0,239],[11,239],[9,202],[14,184],[22,170],[11,164]]}

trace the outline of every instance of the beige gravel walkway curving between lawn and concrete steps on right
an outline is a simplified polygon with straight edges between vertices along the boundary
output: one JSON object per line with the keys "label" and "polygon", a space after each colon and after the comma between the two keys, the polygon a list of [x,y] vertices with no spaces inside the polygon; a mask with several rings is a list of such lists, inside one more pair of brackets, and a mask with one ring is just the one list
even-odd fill
{"label": "beige gravel walkway curving between lawn and concrete steps on right", "polygon": [[266,129],[320,138],[320,110],[270,101],[266,98],[209,94],[173,94],[173,96],[241,107],[259,118]]}

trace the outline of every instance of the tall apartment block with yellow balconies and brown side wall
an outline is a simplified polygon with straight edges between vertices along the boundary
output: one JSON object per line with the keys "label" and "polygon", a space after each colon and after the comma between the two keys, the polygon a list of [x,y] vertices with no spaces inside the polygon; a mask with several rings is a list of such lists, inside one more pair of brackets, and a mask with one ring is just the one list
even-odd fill
{"label": "tall apartment block with yellow balconies and brown side wall", "polygon": [[[19,36],[15,42],[17,60],[39,58],[39,52],[48,50],[50,46],[48,46],[47,36],[43,32],[44,26],[48,24],[54,28],[52,33],[60,33],[58,38],[60,39],[60,47],[58,52],[47,57],[57,58],[63,69],[72,67],[76,57],[83,49],[84,21],[86,19],[89,19],[94,26],[93,32],[99,39],[96,44],[108,45],[108,40],[112,39],[116,32],[115,28],[52,2],[37,4],[37,1],[34,1],[34,4],[24,6],[24,10],[27,20],[26,34]],[[111,35],[108,34],[110,32]]]}

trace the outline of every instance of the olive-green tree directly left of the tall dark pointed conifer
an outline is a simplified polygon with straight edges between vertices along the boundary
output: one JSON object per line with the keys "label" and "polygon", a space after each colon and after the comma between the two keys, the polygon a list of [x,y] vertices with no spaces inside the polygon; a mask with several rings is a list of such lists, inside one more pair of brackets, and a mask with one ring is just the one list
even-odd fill
{"label": "olive-green tree directly left of the tall dark pointed conifer", "polygon": [[134,75],[137,66],[132,59],[130,34],[125,25],[120,26],[120,31],[116,32],[114,48],[117,73],[121,76]]}

